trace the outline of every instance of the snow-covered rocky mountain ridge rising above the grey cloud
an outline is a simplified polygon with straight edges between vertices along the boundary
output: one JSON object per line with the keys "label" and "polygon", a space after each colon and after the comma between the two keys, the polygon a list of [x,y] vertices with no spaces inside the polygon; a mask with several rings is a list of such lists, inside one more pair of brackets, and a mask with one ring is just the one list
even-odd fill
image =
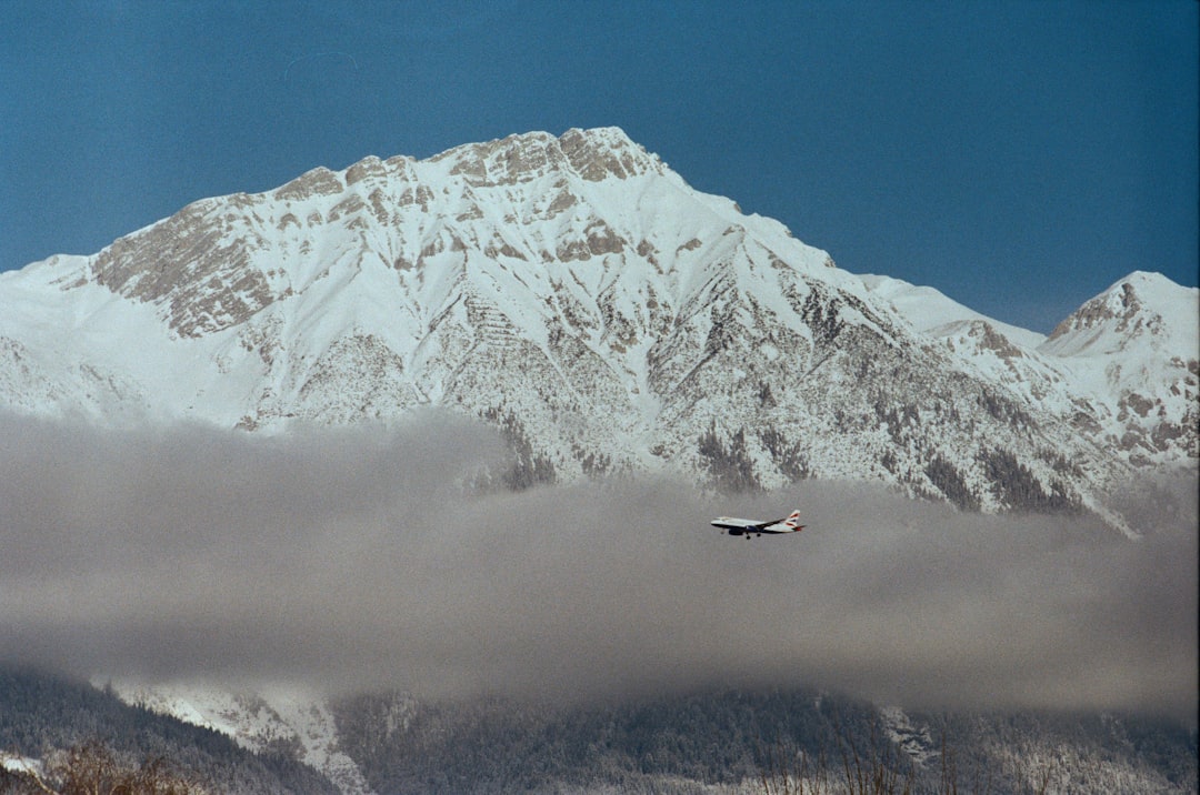
{"label": "snow-covered rocky mountain ridge rising above the grey cloud", "polygon": [[616,128],[368,157],[0,276],[0,405],[276,433],[425,404],[516,484],[666,468],[1094,510],[1198,457],[1198,291],[1134,273],[1049,338],[859,277]]}

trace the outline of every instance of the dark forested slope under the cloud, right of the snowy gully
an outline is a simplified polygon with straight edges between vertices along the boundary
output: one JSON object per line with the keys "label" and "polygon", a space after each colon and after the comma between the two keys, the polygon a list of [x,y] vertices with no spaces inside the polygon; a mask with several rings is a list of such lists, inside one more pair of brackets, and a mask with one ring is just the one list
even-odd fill
{"label": "dark forested slope under the cloud, right of the snowy gully", "polygon": [[712,795],[758,791],[764,776],[802,769],[844,782],[847,761],[886,765],[912,791],[1000,795],[1054,791],[1045,785],[1066,782],[1070,791],[1196,791],[1196,736],[1178,724],[908,717],[919,728],[898,730],[868,704],[803,689],[574,709],[361,695],[337,709],[342,747],[379,793]]}

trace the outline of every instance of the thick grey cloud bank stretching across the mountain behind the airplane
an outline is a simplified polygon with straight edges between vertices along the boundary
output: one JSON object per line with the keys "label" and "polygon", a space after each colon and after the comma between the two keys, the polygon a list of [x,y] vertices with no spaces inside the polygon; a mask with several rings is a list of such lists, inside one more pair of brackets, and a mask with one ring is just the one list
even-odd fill
{"label": "thick grey cloud bank stretching across the mountain behind the airplane", "polygon": [[[806,685],[910,707],[1196,704],[1194,480],[1144,540],[864,484],[463,488],[440,415],[263,438],[0,420],[0,660],[330,692],[619,698]],[[733,538],[716,513],[785,516]]]}

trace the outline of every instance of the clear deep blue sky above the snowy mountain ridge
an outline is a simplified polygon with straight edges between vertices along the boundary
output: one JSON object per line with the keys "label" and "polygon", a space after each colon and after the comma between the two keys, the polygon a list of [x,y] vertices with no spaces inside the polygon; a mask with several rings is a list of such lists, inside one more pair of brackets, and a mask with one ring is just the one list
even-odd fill
{"label": "clear deep blue sky above the snowy mountain ridge", "polygon": [[616,125],[1038,331],[1198,277],[1194,0],[0,0],[0,270],[366,155]]}

